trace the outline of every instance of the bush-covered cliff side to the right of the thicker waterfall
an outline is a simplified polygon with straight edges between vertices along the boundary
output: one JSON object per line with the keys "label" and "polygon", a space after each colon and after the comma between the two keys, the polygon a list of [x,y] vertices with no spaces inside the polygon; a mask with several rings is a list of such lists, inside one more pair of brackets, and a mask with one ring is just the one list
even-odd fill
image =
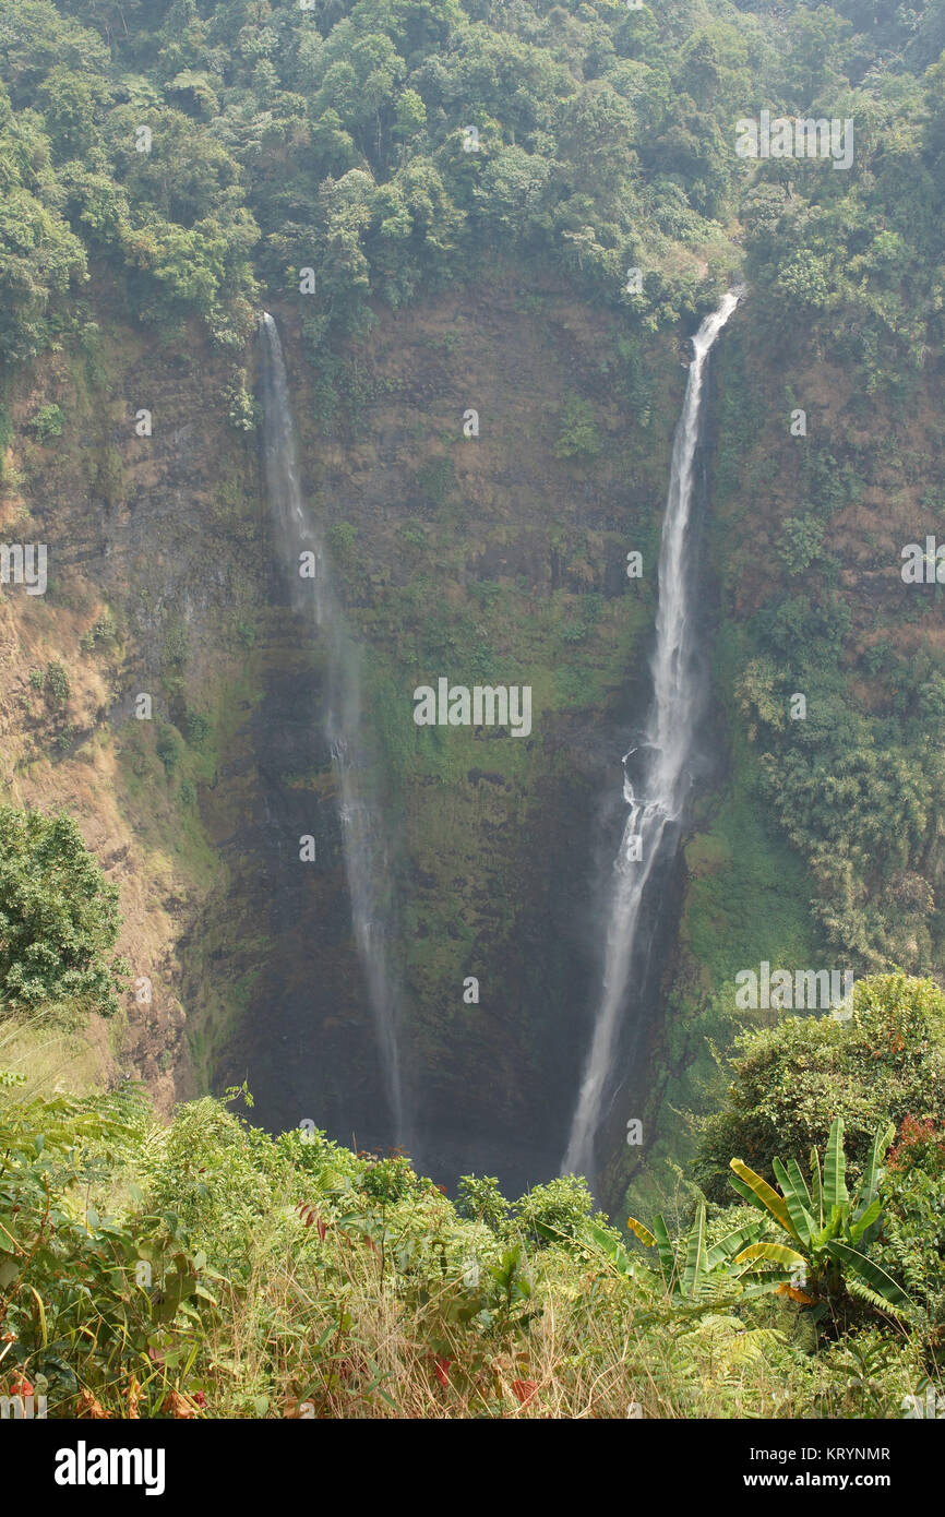
{"label": "bush-covered cliff side to the right of the thicker waterfall", "polygon": [[[833,355],[816,328],[772,346],[749,291],[714,366],[705,608],[725,766],[686,848],[637,1212],[658,1161],[692,1151],[681,1113],[721,1095],[710,1044],[783,1015],[737,1010],[739,971],[945,969],[942,589],[903,578],[906,545],[942,540],[945,373],[927,350],[866,382]],[[614,1197],[636,1156],[611,1153]]]}

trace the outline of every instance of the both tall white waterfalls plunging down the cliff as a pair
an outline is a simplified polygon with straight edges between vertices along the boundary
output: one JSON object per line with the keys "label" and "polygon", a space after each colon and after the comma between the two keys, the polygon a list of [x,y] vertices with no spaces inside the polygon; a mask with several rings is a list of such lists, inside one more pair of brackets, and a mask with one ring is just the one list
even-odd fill
{"label": "both tall white waterfalls plunging down the cliff as a pair", "polygon": [[[637,939],[642,936],[639,928],[648,884],[657,866],[675,856],[692,784],[693,734],[702,698],[692,614],[695,566],[690,519],[695,461],[705,363],[737,302],[737,293],[727,294],[719,309],[702,322],[693,337],[695,358],[673,438],[660,546],[658,611],[651,664],[652,702],[642,742],[623,757],[628,816],[614,863],[604,985],[563,1162],[564,1174],[584,1174],[592,1182],[596,1170],[595,1139],[605,1115],[605,1100],[613,1100],[619,1083],[614,1082],[613,1065],[619,1051],[631,971],[642,963],[640,950],[645,944]],[[382,909],[388,869],[382,833],[366,783],[369,765],[361,739],[359,658],[332,589],[325,545],[302,501],[285,363],[272,316],[262,316],[261,332],[270,507],[288,567],[293,605],[314,619],[320,637],[326,640],[325,736],[338,786],[353,930],[376,1027],[394,1142],[403,1144],[407,1126],[397,1053],[399,997],[388,959]],[[314,578],[302,578],[299,573],[300,555],[306,552],[316,564]]]}

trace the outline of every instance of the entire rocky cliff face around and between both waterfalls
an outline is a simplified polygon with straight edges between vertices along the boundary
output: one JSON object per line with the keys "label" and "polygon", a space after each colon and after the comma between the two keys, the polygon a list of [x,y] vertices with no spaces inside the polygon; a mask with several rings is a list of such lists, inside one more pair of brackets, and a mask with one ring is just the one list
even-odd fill
{"label": "entire rocky cliff face around and between both waterfalls", "polygon": [[[684,344],[626,337],[563,285],[510,270],[381,314],[328,375],[305,355],[302,306],[276,316],[306,496],[364,649],[411,1142],[437,1177],[478,1170],[516,1189],[557,1171],[599,988],[619,755],[649,696]],[[322,733],[325,649],[288,605],[256,435],[228,423],[232,352],[196,329],[161,343],[115,322],[105,287],[89,316],[82,340],[36,363],[8,400],[2,502],[3,540],[46,543],[50,575],[44,596],[0,596],[6,795],[77,816],[121,887],[120,948],[135,981],[150,981],[150,1001],[132,986],[123,1024],[94,1025],[73,1056],[88,1079],[144,1079],[165,1109],[247,1079],[265,1124],[308,1118],[385,1147]],[[899,573],[901,545],[940,520],[940,375],[892,402],[852,391],[816,355],[783,356],[775,384],[748,300],[711,381],[704,614],[724,763],[640,988],[646,1018],[658,1004],[664,1024],[648,1021],[616,1071],[610,1198],[639,1157],[622,1142],[628,1113],[657,1154],[686,1147],[673,1112],[704,1100],[707,1036],[733,1032],[734,974],[761,959],[827,966],[845,951],[808,904],[831,898],[833,877],[790,831],[787,780],[781,804],[764,775],[790,775],[790,743],[804,755],[851,705],[887,724],[871,737],[880,774],[906,783],[899,757],[940,746],[939,592]],[[237,361],[252,385],[252,349]],[[798,438],[789,423],[804,400]],[[59,435],[36,426],[49,405]],[[150,437],[135,432],[143,408]],[[464,435],[470,411],[478,435]],[[796,531],[784,537],[798,516],[821,523],[801,567]],[[640,579],[626,576],[631,551]],[[766,727],[760,677],[745,686],[769,628],[795,614],[764,620],[784,590],[824,637],[837,617],[848,630],[821,639],[833,684],[810,686],[816,721],[793,733]],[[440,678],[531,687],[531,731],[417,727],[414,690]],[[135,715],[143,695],[150,719]],[[863,913],[892,903],[889,931],[895,912],[904,924],[893,947],[922,971],[942,957],[942,846],[910,842],[912,825],[898,862],[877,854],[862,869],[849,912],[881,947]],[[306,834],[314,863],[299,859]]]}

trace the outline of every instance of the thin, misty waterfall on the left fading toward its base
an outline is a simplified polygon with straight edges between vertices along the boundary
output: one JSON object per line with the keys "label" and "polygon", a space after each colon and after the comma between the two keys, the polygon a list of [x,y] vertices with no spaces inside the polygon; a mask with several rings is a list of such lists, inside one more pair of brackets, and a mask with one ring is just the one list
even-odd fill
{"label": "thin, misty waterfall on the left fading toward its base", "polygon": [[[361,666],[344,613],[331,578],[331,561],[322,534],[302,501],[296,428],[279,329],[264,311],[262,334],[262,449],[270,508],[285,557],[293,607],[314,619],[328,642],[328,692],[325,737],[338,784],[338,815],[344,842],[344,869],[352,906],[358,956],[367,981],[375,1019],[393,1141],[405,1141],[403,1091],[397,1053],[397,991],[387,951],[387,919],[382,907],[388,877],[384,839],[367,792],[367,762],[361,743]],[[300,555],[311,554],[314,578],[299,573]]]}

